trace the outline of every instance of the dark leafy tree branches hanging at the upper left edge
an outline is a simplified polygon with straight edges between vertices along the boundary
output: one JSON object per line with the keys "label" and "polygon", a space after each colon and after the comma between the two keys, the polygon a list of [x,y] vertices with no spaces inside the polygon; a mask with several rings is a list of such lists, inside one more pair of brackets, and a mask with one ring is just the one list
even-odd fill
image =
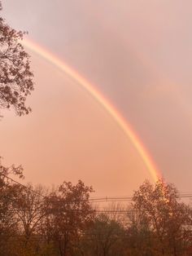
{"label": "dark leafy tree branches hanging at the upper left edge", "polygon": [[23,36],[0,18],[0,108],[12,107],[19,116],[31,112],[25,101],[33,90],[29,55],[20,43]]}

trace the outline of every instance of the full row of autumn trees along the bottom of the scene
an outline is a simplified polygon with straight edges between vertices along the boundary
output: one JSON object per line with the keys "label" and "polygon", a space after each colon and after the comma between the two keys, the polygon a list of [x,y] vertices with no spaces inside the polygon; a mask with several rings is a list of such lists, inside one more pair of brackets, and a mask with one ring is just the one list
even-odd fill
{"label": "full row of autumn trees along the bottom of the scene", "polygon": [[81,180],[46,189],[13,175],[22,168],[0,166],[0,255],[192,255],[192,212],[172,184],[146,181],[131,202],[103,209]]}

